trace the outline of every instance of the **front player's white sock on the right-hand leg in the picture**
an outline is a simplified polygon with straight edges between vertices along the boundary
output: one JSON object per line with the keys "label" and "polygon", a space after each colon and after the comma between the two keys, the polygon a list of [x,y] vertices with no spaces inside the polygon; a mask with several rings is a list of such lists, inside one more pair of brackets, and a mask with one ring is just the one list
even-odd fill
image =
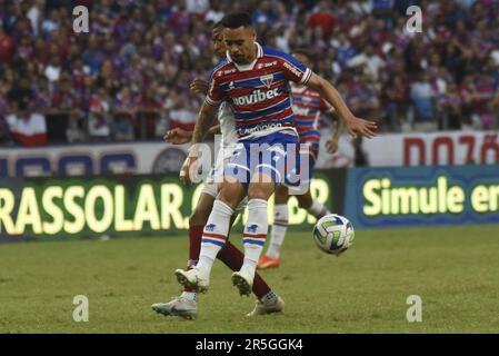
{"label": "front player's white sock on the right-hand leg in the picture", "polygon": [[248,201],[248,221],[242,234],[244,246],[244,261],[241,271],[244,270],[251,279],[255,278],[258,259],[266,245],[269,218],[267,215],[267,200],[251,199]]}

